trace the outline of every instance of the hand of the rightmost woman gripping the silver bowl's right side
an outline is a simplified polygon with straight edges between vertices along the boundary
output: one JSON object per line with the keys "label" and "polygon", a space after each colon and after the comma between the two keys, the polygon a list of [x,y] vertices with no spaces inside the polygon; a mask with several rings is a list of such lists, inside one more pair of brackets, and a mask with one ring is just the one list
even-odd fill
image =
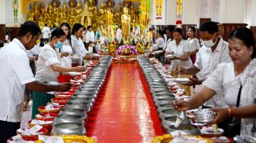
{"label": "hand of the rightmost woman gripping the silver bowl's right side", "polygon": [[213,108],[211,109],[216,112],[216,117],[213,119],[213,124],[223,122],[229,116],[229,110],[226,108]]}

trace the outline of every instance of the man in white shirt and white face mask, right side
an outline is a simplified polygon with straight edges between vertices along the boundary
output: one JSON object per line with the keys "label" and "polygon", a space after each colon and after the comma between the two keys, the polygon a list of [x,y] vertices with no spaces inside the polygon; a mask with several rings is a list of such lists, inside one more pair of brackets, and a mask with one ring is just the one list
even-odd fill
{"label": "man in white shirt and white face mask, right side", "polygon": [[[197,78],[191,78],[188,85],[202,84],[222,62],[231,62],[229,57],[229,45],[219,36],[219,28],[216,22],[207,21],[200,26],[200,37],[203,40],[203,46],[197,53],[197,60],[190,68],[181,69],[186,75],[196,75]],[[216,94],[208,100],[204,106],[216,107],[226,106],[221,93]]]}

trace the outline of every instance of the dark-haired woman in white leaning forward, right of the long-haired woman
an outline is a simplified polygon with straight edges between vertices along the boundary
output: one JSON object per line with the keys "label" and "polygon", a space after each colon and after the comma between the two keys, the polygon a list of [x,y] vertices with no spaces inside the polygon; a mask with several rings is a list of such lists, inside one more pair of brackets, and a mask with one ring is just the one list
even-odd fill
{"label": "dark-haired woman in white leaning forward, right of the long-haired woman", "polygon": [[88,50],[85,49],[85,44],[81,39],[83,31],[84,31],[84,27],[82,26],[82,24],[74,24],[72,28],[72,35],[71,35],[71,46],[72,46],[73,52],[76,56],[79,56],[82,58],[84,58],[85,55],[88,53]]}

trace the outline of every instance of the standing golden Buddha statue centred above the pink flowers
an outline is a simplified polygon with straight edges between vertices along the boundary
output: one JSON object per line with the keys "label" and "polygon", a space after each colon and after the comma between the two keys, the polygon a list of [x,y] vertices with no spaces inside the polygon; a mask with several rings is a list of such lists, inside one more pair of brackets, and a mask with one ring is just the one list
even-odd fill
{"label": "standing golden Buddha statue centred above the pink flowers", "polygon": [[129,37],[130,37],[130,21],[131,21],[131,17],[129,14],[129,9],[127,7],[124,7],[123,14],[121,17],[121,22],[122,22],[123,38],[127,41],[129,40]]}

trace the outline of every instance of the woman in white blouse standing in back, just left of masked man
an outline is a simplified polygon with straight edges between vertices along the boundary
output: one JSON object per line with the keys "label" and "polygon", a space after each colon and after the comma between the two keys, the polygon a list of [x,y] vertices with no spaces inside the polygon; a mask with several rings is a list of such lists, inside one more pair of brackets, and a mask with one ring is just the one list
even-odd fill
{"label": "woman in white blouse standing in back, just left of masked man", "polygon": [[188,36],[188,43],[190,43],[192,52],[190,53],[190,59],[192,63],[196,62],[196,55],[199,51],[200,44],[199,40],[195,37],[196,28],[195,27],[189,27],[187,30],[187,36]]}

